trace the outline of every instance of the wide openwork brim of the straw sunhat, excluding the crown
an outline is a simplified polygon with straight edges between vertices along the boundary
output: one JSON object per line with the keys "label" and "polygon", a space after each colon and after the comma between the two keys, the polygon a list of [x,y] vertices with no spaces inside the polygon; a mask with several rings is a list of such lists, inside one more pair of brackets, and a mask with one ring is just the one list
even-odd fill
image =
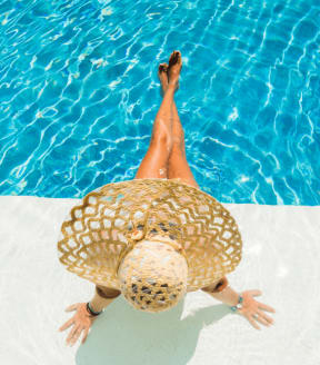
{"label": "wide openwork brim of the straw sunhat, excluding the crown", "polygon": [[172,179],[134,179],[89,193],[62,224],[59,260],[82,278],[120,289],[117,269],[139,243],[132,239],[137,230],[139,239],[161,235],[183,247],[188,292],[233,272],[241,260],[241,235],[230,213]]}

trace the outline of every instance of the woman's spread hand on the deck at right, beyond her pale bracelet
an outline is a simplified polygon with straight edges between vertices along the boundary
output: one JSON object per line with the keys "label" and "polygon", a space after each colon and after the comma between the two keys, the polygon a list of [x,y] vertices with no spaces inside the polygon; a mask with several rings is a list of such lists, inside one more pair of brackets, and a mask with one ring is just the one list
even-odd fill
{"label": "woman's spread hand on the deck at right, beyond her pale bracelet", "polygon": [[258,326],[256,320],[259,320],[264,326],[270,326],[271,324],[273,324],[273,319],[267,316],[264,312],[262,312],[262,309],[272,313],[276,312],[272,307],[263,303],[259,303],[252,298],[253,296],[258,296],[261,294],[262,292],[258,289],[247,290],[241,293],[241,296],[243,297],[242,308],[237,310],[237,313],[244,316],[251,323],[251,325],[257,329],[261,329],[261,328]]}

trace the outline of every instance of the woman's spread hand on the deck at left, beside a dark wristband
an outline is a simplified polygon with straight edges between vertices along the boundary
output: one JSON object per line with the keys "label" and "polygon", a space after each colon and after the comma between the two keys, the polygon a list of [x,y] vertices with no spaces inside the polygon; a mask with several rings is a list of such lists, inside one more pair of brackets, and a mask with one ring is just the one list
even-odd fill
{"label": "woman's spread hand on the deck at left, beside a dark wristband", "polygon": [[97,317],[91,316],[87,310],[87,303],[77,303],[70,305],[68,308],[66,308],[66,312],[77,310],[74,316],[67,320],[59,331],[64,331],[72,326],[69,336],[67,338],[67,345],[73,346],[77,339],[80,337],[82,331],[84,331],[84,335],[82,337],[82,344],[84,344],[86,338],[89,333],[89,328],[93,320]]}

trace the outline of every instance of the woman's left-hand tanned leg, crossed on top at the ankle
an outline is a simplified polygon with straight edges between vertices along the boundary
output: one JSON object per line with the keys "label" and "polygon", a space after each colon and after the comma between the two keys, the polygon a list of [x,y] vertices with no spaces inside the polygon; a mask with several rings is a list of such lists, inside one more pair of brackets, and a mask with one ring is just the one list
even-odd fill
{"label": "woman's left-hand tanned leg, crossed on top at the ankle", "polygon": [[[171,80],[163,90],[163,100],[156,116],[149,149],[137,171],[136,179],[167,178],[168,161],[172,149],[172,103],[182,63],[177,58],[171,67]],[[167,73],[159,68],[159,78]],[[168,80],[168,78],[167,78]]]}

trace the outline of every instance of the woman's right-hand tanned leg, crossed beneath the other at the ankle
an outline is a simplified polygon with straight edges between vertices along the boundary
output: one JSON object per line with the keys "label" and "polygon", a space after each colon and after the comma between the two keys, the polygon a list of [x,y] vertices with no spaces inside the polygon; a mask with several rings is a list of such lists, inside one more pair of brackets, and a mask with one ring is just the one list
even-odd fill
{"label": "woman's right-hand tanned leg, crossed beneath the other at the ankle", "polygon": [[[164,63],[164,68],[167,69],[167,75],[169,80],[167,80],[167,82],[164,79],[161,80],[161,87],[163,92],[166,92],[168,87],[168,81],[170,81],[171,78],[172,59],[174,60],[173,57],[174,56],[171,55],[169,60],[169,67],[168,65]],[[187,161],[186,147],[184,147],[184,132],[178,115],[178,109],[174,99],[172,102],[172,148],[168,161],[168,178],[169,179],[179,178],[186,184],[199,188],[199,185],[197,184]]]}

